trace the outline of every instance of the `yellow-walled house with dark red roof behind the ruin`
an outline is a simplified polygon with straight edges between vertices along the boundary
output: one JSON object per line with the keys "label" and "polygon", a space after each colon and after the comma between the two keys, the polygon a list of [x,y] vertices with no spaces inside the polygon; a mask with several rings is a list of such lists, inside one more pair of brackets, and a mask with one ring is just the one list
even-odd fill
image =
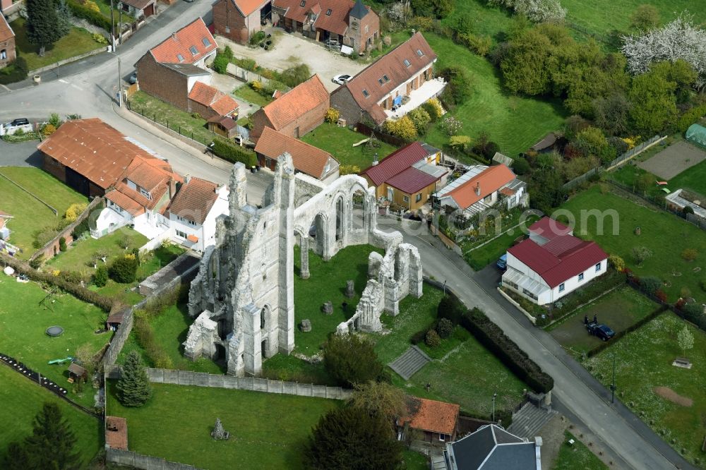
{"label": "yellow-walled house with dark red roof behind the ruin", "polygon": [[414,211],[428,202],[438,184],[443,184],[448,171],[436,165],[441,158],[441,150],[413,142],[364,169],[360,175],[375,186],[376,198]]}

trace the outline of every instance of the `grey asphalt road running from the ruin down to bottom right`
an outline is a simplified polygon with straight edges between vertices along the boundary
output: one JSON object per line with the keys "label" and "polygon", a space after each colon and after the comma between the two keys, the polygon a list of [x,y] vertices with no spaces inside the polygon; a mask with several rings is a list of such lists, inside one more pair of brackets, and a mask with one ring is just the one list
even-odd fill
{"label": "grey asphalt road running from the ruin down to bottom right", "polygon": [[[533,361],[554,378],[553,397],[633,469],[693,469],[639,418],[621,404],[610,404],[610,392],[597,382],[544,330],[534,327],[495,289],[498,275],[474,273],[452,251],[433,239],[426,224],[380,219],[383,230],[399,229],[419,249],[426,275],[445,282],[466,306],[477,306],[501,327]],[[477,279],[480,279],[481,282]],[[481,285],[482,284],[482,285]]]}

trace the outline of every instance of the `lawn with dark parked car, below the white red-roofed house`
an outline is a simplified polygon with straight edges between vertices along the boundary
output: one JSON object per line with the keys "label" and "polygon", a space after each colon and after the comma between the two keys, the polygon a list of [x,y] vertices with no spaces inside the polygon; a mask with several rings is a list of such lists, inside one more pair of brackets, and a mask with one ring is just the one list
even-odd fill
{"label": "lawn with dark parked car, below the white red-roofed house", "polygon": [[589,335],[583,324],[584,316],[593,320],[598,316],[599,323],[605,323],[615,332],[621,332],[659,308],[647,297],[630,287],[620,287],[597,301],[580,308],[567,318],[551,325],[547,330],[551,336],[575,357],[580,358],[594,347],[602,344],[601,339]]}

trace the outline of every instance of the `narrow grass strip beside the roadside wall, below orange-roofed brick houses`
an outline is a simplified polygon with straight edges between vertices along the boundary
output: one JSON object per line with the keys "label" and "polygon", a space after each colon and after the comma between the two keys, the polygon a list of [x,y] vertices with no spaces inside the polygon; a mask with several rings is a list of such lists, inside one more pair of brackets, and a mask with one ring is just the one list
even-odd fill
{"label": "narrow grass strip beside the roadside wall, below orange-roofed brick houses", "polygon": [[172,131],[186,135],[198,142],[208,144],[215,134],[206,128],[206,120],[194,118],[191,114],[165,103],[157,98],[138,91],[130,98],[130,109],[152,121],[168,126]]}

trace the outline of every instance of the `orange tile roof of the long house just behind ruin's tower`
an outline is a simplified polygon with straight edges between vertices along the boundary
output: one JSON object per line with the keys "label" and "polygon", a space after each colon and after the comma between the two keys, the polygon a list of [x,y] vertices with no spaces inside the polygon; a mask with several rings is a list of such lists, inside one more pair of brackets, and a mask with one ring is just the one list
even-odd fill
{"label": "orange tile roof of the long house just behind ruin's tower", "polygon": [[272,159],[277,159],[284,152],[289,152],[295,169],[318,179],[324,176],[329,159],[333,159],[337,164],[330,153],[299,139],[282,135],[269,127],[263,129],[263,135],[258,140],[255,151]]}

